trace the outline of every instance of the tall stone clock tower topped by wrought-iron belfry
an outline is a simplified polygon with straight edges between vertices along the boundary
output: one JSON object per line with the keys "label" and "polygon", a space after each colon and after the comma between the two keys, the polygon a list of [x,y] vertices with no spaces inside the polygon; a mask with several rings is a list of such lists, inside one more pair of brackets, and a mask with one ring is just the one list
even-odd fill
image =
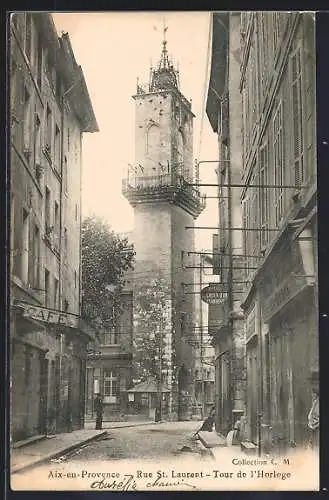
{"label": "tall stone clock tower topped by wrought-iron belfry", "polygon": [[[183,283],[193,281],[187,252],[194,250],[194,219],[204,208],[194,179],[193,113],[179,90],[179,75],[169,61],[166,40],[147,86],[134,95],[135,162],[123,182],[123,194],[134,208],[136,263],[133,277],[134,338],[139,331],[145,283],[159,283],[165,297],[164,319],[156,325],[166,344],[162,381],[168,387],[172,419],[190,418],[194,399],[194,348],[187,339],[194,317],[194,298]],[[154,332],[149,332],[150,336]]]}

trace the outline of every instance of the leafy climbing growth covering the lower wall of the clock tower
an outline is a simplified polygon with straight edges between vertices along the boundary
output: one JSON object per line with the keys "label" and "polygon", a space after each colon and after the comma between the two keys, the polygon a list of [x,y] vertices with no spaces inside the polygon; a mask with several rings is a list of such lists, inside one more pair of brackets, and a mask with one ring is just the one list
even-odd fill
{"label": "leafy climbing growth covering the lower wall of the clock tower", "polygon": [[169,286],[161,277],[140,283],[135,287],[134,302],[134,378],[153,378],[159,383],[160,370],[172,370],[174,361]]}

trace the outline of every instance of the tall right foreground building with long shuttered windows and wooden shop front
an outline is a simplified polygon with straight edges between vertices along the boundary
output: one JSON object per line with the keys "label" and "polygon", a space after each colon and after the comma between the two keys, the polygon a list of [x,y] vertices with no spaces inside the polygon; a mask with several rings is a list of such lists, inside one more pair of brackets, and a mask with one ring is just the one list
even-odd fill
{"label": "tall right foreground building with long shuttered windows and wooden shop front", "polygon": [[306,442],[318,368],[314,14],[244,12],[241,52],[247,433],[265,451]]}

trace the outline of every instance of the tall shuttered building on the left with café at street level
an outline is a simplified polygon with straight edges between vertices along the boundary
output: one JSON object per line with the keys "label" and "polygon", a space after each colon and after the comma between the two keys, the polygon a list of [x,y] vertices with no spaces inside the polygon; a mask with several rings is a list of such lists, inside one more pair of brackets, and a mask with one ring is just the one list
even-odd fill
{"label": "tall shuttered building on the left with caf\u00e9 at street level", "polygon": [[10,23],[11,431],[81,428],[81,139],[98,130],[67,34],[48,13]]}

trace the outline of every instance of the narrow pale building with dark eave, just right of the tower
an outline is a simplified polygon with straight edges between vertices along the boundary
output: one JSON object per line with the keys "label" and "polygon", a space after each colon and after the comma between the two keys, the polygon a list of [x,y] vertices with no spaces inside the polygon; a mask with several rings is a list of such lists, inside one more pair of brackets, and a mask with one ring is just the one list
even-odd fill
{"label": "narrow pale building with dark eave, just right of the tower", "polygon": [[218,304],[209,305],[209,333],[216,355],[216,429],[226,434],[245,409],[244,322],[240,311],[246,260],[243,253],[242,107],[240,14],[212,14],[212,51],[206,113],[218,136],[213,166],[218,182],[218,232],[213,236],[213,272]]}

